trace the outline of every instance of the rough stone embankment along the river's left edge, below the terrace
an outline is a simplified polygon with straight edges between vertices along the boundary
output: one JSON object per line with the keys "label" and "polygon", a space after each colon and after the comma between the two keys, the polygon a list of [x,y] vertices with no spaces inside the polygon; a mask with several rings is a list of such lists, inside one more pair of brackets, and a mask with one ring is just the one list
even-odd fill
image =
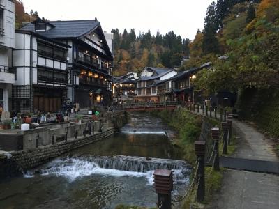
{"label": "rough stone embankment along the river's left edge, below the terrace", "polygon": [[77,138],[71,137],[65,141],[55,141],[55,144],[38,146],[38,148],[0,152],[0,178],[17,176],[27,169],[38,167],[40,164],[59,157],[59,155],[70,152],[70,150],[110,137],[115,130],[119,130],[126,123],[126,114],[120,112],[114,115],[114,127],[107,127],[103,132],[86,134],[85,137],[83,135],[77,136]]}

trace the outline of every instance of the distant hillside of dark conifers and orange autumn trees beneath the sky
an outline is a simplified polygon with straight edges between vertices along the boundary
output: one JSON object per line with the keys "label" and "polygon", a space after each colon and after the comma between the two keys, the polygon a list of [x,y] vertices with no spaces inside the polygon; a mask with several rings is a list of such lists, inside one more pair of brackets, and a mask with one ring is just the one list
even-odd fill
{"label": "distant hillside of dark conifers and orange autumn trees beneath the sky", "polygon": [[174,31],[163,36],[158,31],[156,36],[151,32],[136,36],[135,29],[125,29],[114,33],[114,69],[116,75],[127,71],[142,70],[145,66],[173,68],[180,66],[183,56],[189,56],[189,39],[182,39]]}

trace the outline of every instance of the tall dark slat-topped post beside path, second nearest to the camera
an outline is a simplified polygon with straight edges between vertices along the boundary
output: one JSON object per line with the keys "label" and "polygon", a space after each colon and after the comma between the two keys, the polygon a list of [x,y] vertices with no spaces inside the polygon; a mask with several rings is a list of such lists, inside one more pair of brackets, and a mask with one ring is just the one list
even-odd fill
{"label": "tall dark slat-topped post beside path, second nearest to the camera", "polygon": [[195,153],[197,155],[197,201],[201,203],[204,201],[204,155],[205,155],[205,141],[195,141]]}

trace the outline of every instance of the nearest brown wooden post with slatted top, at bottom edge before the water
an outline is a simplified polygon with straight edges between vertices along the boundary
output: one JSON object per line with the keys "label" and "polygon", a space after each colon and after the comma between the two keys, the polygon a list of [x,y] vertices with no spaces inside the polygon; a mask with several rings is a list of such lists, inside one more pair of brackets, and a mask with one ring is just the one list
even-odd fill
{"label": "nearest brown wooden post with slatted top, at bottom edge before the water", "polygon": [[158,208],[171,209],[172,208],[172,189],[173,179],[172,171],[156,170],[153,173],[155,192],[158,194]]}

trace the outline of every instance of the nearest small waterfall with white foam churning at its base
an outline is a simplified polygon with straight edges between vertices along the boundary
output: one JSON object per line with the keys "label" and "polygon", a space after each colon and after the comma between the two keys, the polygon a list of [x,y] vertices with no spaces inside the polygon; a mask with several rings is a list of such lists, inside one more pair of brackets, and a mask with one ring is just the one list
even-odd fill
{"label": "nearest small waterfall with white foam churning at its base", "polygon": [[147,184],[153,184],[153,172],[156,169],[174,171],[176,183],[188,182],[191,171],[189,165],[181,160],[159,158],[131,157],[124,155],[107,156],[73,156],[56,159],[45,165],[43,169],[27,171],[25,178],[33,178],[36,174],[47,176],[54,174],[73,181],[90,175],[133,176],[144,177]]}

